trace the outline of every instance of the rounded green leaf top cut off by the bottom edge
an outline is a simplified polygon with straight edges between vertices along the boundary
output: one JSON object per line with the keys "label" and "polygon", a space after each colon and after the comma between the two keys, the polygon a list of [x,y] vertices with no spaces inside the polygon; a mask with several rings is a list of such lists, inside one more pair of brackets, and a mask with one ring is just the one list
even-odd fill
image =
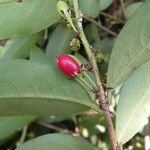
{"label": "rounded green leaf top cut off by the bottom edge", "polygon": [[47,134],[30,140],[16,150],[98,150],[83,138],[65,134]]}

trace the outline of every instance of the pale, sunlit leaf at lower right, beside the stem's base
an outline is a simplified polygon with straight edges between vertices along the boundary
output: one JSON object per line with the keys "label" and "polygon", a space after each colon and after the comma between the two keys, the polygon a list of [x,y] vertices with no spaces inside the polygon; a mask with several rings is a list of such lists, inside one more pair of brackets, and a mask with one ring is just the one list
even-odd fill
{"label": "pale, sunlit leaf at lower right, beside the stem's base", "polygon": [[130,140],[150,115],[150,61],[138,67],[123,85],[117,106],[119,143]]}

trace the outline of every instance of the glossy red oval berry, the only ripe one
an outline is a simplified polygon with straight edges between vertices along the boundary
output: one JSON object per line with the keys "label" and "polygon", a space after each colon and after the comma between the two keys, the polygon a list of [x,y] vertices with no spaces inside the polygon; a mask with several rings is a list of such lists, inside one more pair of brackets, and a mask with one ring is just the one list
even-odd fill
{"label": "glossy red oval berry, the only ripe one", "polygon": [[59,69],[67,76],[74,77],[81,72],[80,65],[68,54],[57,57]]}

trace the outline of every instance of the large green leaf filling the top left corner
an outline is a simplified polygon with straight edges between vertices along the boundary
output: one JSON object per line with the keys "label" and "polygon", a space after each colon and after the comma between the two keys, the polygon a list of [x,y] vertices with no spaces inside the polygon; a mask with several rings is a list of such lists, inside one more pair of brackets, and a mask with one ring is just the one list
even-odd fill
{"label": "large green leaf filling the top left corner", "polygon": [[33,34],[59,19],[57,0],[23,0],[0,4],[0,39]]}

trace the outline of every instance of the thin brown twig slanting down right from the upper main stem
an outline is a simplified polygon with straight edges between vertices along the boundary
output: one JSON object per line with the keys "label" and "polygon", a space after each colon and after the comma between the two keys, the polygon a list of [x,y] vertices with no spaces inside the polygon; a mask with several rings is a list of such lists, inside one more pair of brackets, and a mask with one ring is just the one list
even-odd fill
{"label": "thin brown twig slanting down right from the upper main stem", "polygon": [[105,26],[101,25],[100,23],[98,23],[97,21],[87,17],[87,16],[83,16],[83,18],[85,18],[86,20],[94,23],[95,25],[97,25],[99,28],[101,28],[102,30],[104,30],[105,32],[109,33],[112,36],[117,36],[117,34],[115,32],[113,32],[112,30],[110,30],[109,28],[106,28]]}

